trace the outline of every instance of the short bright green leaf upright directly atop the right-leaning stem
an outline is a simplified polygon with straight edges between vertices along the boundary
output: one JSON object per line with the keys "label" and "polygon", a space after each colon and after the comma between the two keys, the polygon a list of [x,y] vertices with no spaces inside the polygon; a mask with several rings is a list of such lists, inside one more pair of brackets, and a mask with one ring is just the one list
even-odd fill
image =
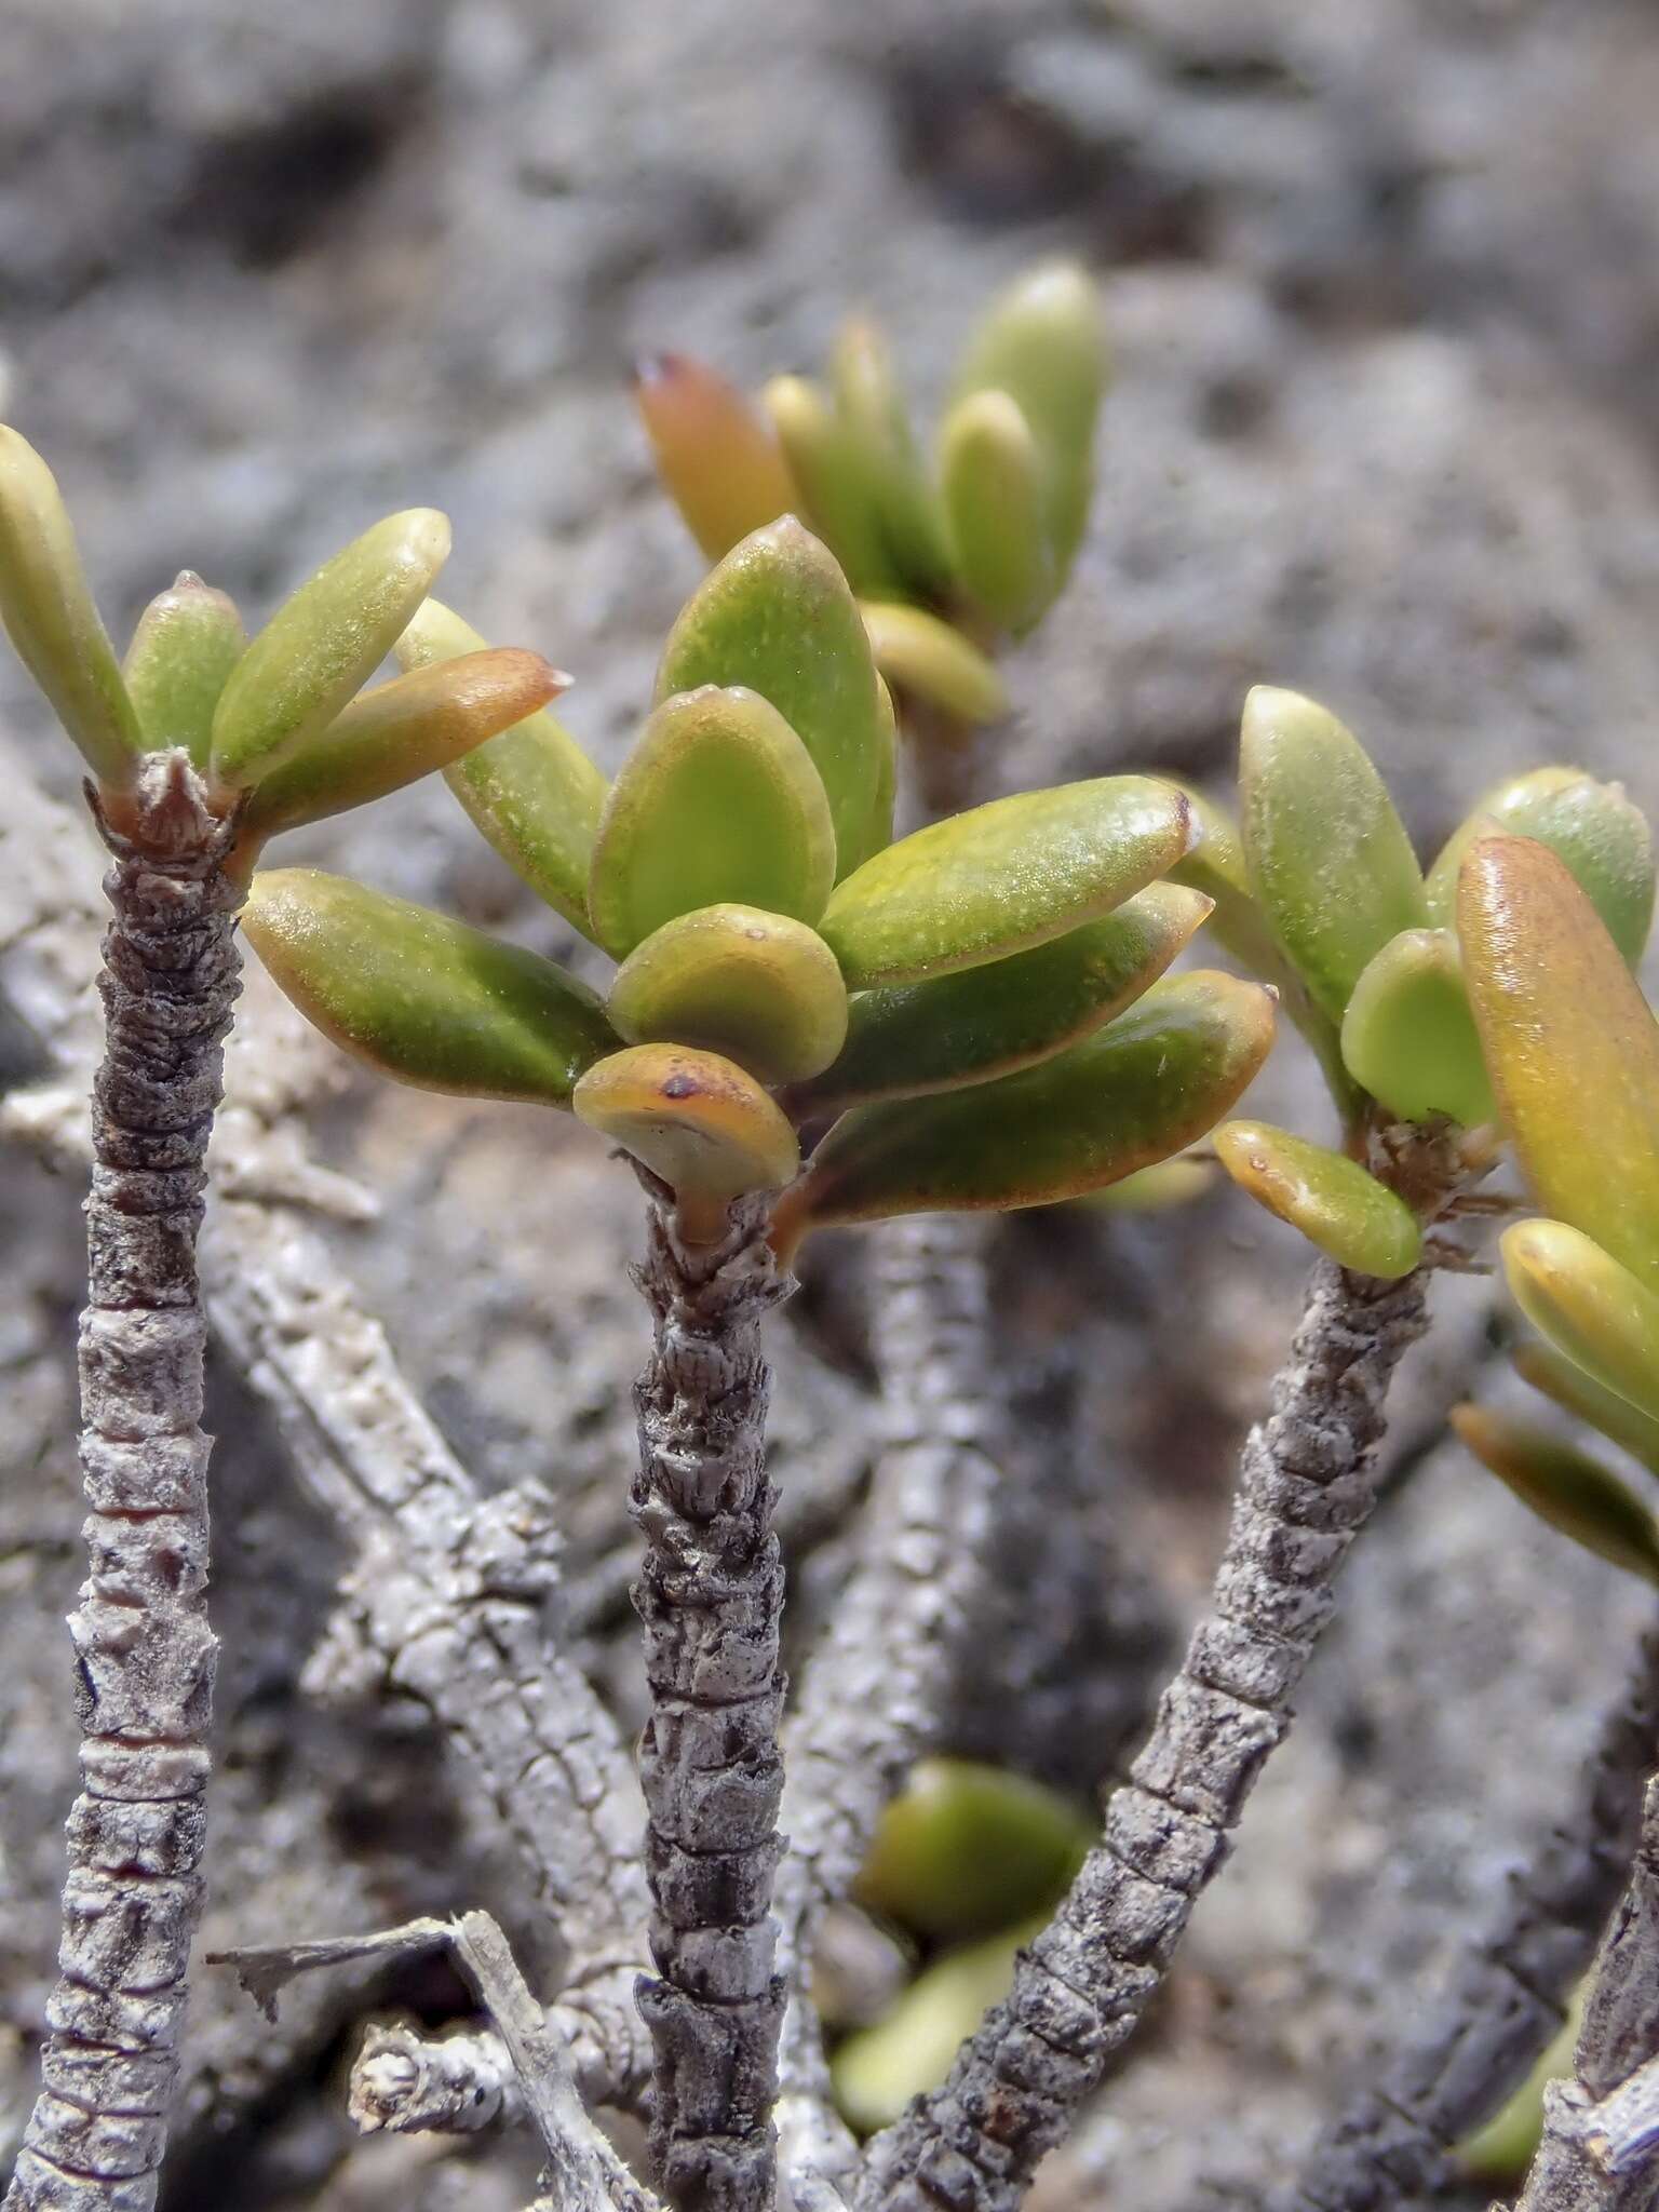
{"label": "short bright green leaf upright directly atop the right-leaning stem", "polygon": [[1402,929],[1369,962],[1343,1015],[1343,1060],[1402,1121],[1438,1113],[1464,1128],[1491,1121],[1486,1062],[1449,929]]}

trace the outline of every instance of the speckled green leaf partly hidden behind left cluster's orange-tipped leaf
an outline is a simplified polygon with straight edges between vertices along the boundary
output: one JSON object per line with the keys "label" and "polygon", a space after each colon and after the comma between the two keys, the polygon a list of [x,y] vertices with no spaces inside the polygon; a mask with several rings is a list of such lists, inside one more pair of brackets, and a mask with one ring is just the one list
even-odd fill
{"label": "speckled green leaf partly hidden behind left cluster's orange-tipped leaf", "polygon": [[[427,599],[396,650],[403,668],[427,668],[482,653],[484,639]],[[591,938],[588,869],[608,783],[571,732],[549,712],[529,714],[447,768],[445,783],[513,874]]]}

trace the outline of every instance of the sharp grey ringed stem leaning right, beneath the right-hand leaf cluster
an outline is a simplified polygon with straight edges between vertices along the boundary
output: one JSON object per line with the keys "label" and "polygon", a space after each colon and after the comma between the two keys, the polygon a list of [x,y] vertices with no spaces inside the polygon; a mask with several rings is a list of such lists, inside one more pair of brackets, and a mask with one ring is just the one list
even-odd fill
{"label": "sharp grey ringed stem leaning right, beneath the right-hand leaf cluster", "polygon": [[947,2084],[872,2143],[860,2212],[1011,2212],[1159,1991],[1376,1502],[1383,1407],[1425,1292],[1422,1270],[1398,1283],[1314,1270],[1272,1416],[1243,1449],[1212,1610],[1102,1843]]}

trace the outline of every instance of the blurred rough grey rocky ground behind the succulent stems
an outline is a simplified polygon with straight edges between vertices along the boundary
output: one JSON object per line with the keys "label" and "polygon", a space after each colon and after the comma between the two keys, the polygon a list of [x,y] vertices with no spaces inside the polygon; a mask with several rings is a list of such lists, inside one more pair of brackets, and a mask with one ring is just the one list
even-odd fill
{"label": "blurred rough grey rocky ground behind the succulent stems", "polygon": [[[392,507],[456,522],[449,595],[580,688],[615,761],[695,580],[624,376],[681,345],[812,363],[856,303],[925,398],[984,292],[1051,248],[1110,296],[1119,387],[1077,582],[1013,668],[1009,783],[1128,761],[1223,776],[1256,677],[1329,699],[1431,845],[1506,765],[1652,787],[1659,588],[1659,31],[1644,0],[11,0],[0,376],[117,624],[181,564],[272,599]],[[0,717],[73,783],[11,661]],[[420,790],[310,854],[568,949]],[[307,856],[307,854],[296,854]],[[27,1037],[4,1040],[11,1071]],[[1294,1053],[1270,1077],[1312,1113]],[[1267,1093],[1263,1093],[1267,1104]],[[582,1621],[624,1708],[626,1181],[580,1130],[354,1086],[327,1144],[387,1199],[341,1261],[480,1475],[564,1500]],[[46,1989],[77,1579],[75,1194],[0,1179],[0,2112]],[[995,1243],[1022,1484],[1004,1646],[962,1745],[1077,1785],[1117,1759],[1201,1595],[1230,1453],[1296,1298],[1287,1237],[1206,1199],[1033,1217]],[[779,1478],[805,1624],[834,1599],[874,1420],[856,1250],[783,1334]],[[440,1287],[442,1296],[434,1290]],[[1438,1409],[1484,1347],[1451,1285],[1405,1398],[1398,1502],[1168,2004],[1051,2179],[1177,2205],[1283,2168],[1365,2037],[1433,1986],[1566,1790],[1639,1604],[1542,1537]],[[507,1898],[396,1714],[296,1674],[341,1566],[234,1376],[217,1385],[223,1776],[212,1936]],[[1128,1573],[1128,1590],[1124,1586]],[[442,1982],[392,1993],[447,2017]],[[281,2037],[197,2015],[168,2212],[513,2212],[522,2148],[352,2148],[345,2000]],[[1471,2199],[1473,2201],[1473,2199]]]}

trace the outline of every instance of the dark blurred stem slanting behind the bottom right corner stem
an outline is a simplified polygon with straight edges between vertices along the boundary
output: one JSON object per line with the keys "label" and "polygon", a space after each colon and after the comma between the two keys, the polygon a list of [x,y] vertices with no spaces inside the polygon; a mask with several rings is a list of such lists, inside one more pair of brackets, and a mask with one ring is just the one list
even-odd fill
{"label": "dark blurred stem slanting behind the bottom right corner stem", "polygon": [[1601,1725],[1571,1816],[1509,1876],[1502,1911],[1458,1960],[1422,2033],[1360,2068],[1367,2086],[1272,2212],[1387,2212],[1458,2185],[1453,2146],[1520,2088],[1590,1964],[1630,1867],[1655,1743],[1659,1632]]}

